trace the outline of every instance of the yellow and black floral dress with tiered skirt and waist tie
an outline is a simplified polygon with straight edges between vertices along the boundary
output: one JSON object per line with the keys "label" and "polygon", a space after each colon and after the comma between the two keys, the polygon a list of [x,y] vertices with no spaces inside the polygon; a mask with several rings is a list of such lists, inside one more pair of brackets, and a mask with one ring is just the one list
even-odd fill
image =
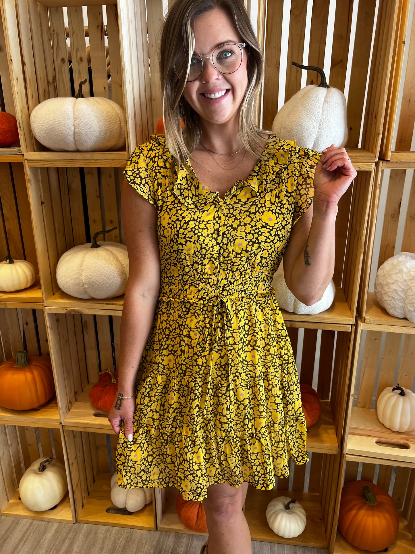
{"label": "yellow and black floral dress with tiered skirt and waist tie", "polygon": [[321,154],[271,137],[268,160],[224,199],[183,166],[172,177],[163,135],[138,146],[125,169],[157,207],[161,284],[137,373],[133,440],[123,422],[118,435],[122,488],[175,486],[202,500],[217,483],[272,489],[290,458],[308,461],[297,368],[271,281],[292,224],[313,201]]}

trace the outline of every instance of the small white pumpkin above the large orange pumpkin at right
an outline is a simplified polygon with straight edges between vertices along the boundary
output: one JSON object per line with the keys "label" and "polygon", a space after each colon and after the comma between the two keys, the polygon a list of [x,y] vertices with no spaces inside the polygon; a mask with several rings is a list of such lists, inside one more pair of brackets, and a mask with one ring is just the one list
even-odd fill
{"label": "small white pumpkin above the large orange pumpkin at right", "polygon": [[379,421],[392,431],[406,433],[415,429],[415,394],[408,388],[386,387],[376,404]]}

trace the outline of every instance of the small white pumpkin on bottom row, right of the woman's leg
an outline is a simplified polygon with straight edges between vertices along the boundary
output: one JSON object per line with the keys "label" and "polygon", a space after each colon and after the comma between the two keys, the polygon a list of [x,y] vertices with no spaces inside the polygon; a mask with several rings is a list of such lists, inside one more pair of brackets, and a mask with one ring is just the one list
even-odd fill
{"label": "small white pumpkin on bottom row, right of the woman's leg", "polygon": [[272,499],[265,515],[273,532],[284,538],[298,537],[307,524],[303,506],[288,496],[277,496]]}

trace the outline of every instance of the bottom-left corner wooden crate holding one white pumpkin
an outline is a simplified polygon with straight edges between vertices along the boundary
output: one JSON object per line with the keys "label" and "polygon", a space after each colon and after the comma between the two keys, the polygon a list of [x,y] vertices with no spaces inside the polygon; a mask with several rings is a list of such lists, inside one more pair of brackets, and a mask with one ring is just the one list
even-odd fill
{"label": "bottom-left corner wooden crate holding one white pumpkin", "polygon": [[[3,418],[2,418],[3,420]],[[40,427],[38,423],[22,418],[21,423],[0,425],[0,511],[2,516],[23,517],[42,521],[75,523],[74,495],[69,473],[63,428]],[[23,505],[19,483],[24,472],[38,458],[52,456],[66,468],[68,490],[55,509],[35,512]]]}

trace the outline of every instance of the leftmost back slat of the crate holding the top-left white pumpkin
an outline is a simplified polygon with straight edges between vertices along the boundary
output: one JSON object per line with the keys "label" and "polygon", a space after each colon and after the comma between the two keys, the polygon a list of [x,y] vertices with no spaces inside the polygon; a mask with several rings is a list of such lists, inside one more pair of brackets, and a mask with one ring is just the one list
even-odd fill
{"label": "leftmost back slat of the crate holding the top-left white pumpkin", "polygon": [[56,90],[58,96],[71,96],[63,9],[49,8],[49,20],[55,66]]}

